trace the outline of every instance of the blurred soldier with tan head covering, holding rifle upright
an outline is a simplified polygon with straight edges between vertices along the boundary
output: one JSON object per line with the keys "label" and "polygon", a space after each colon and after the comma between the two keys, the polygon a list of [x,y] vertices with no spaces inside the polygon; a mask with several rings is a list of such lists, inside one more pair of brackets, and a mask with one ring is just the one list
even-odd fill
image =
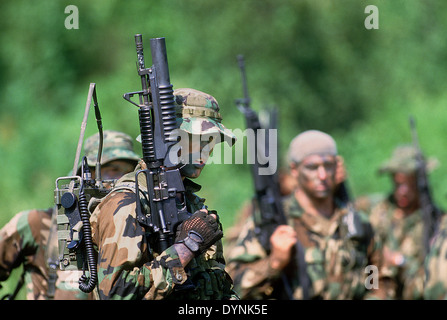
{"label": "blurred soldier with tan head covering, holding rifle upright", "polygon": [[[230,254],[228,271],[241,298],[302,299],[307,291],[310,299],[392,295],[392,282],[381,273],[382,254],[368,218],[337,194],[333,138],[318,130],[299,134],[290,144],[289,162],[297,188],[284,200],[288,225],[276,228],[266,252],[253,223],[248,223]],[[306,287],[294,257],[297,241],[304,247],[310,283]],[[376,269],[367,279],[368,265]]]}

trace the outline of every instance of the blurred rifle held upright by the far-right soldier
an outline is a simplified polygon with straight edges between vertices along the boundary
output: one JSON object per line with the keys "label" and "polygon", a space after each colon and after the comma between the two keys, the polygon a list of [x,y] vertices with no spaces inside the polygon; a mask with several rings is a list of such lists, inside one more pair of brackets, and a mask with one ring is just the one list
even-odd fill
{"label": "blurred rifle held upright by the far-right soldier", "polygon": [[422,216],[424,221],[424,254],[427,255],[430,250],[430,241],[434,236],[439,219],[442,215],[442,211],[435,206],[431,195],[430,186],[428,183],[427,175],[427,162],[419,146],[418,134],[416,131],[414,118],[410,116],[410,128],[413,138],[413,146],[416,149],[416,175],[417,185],[419,191],[419,203],[422,210]]}

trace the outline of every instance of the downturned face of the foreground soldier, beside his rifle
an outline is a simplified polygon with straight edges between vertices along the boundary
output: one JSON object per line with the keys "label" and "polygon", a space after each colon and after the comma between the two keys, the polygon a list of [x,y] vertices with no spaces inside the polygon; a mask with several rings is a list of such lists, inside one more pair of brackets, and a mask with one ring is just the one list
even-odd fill
{"label": "downturned face of the foreground soldier, beside his rifle", "polygon": [[183,177],[194,179],[202,173],[206,161],[213,151],[215,142],[213,136],[189,135],[189,137],[188,153],[182,155],[187,160],[187,163],[180,169],[180,173]]}

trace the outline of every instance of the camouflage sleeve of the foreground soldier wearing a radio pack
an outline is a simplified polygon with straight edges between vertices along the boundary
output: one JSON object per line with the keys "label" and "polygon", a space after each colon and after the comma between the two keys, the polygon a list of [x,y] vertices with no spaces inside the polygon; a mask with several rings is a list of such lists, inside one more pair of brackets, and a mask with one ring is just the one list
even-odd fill
{"label": "camouflage sleeve of the foreground soldier wearing a radio pack", "polygon": [[92,214],[101,299],[163,299],[187,279],[173,246],[149,261],[135,201],[132,192],[115,192]]}

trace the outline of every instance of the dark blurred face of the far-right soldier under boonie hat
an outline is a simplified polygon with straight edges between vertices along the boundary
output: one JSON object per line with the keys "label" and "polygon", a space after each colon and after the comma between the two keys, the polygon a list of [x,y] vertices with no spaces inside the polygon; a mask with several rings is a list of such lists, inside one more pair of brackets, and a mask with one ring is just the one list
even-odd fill
{"label": "dark blurred face of the far-right soldier under boonie hat", "polygon": [[402,209],[415,208],[419,201],[416,174],[398,172],[392,178],[397,206]]}

